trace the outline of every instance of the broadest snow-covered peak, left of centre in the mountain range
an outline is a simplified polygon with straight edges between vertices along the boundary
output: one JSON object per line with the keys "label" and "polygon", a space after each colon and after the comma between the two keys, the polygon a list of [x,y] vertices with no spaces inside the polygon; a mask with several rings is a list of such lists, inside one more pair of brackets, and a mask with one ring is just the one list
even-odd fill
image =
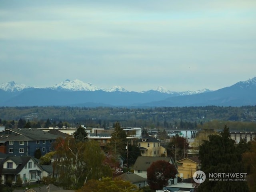
{"label": "broadest snow-covered peak, left of centre in the mountain range", "polygon": [[54,90],[69,90],[69,91],[96,91],[100,90],[100,88],[93,86],[91,83],[85,83],[78,79],[75,80],[65,80],[63,82],[60,82],[59,84],[56,84],[53,87],[50,87]]}

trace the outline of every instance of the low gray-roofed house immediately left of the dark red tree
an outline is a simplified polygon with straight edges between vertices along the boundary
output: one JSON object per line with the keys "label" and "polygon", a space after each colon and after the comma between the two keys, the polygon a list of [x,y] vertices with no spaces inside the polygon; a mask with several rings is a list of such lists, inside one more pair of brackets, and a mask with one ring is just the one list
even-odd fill
{"label": "low gray-roofed house immediately left of the dark red tree", "polygon": [[120,178],[124,181],[129,181],[132,184],[136,185],[138,188],[148,185],[146,178],[138,176],[138,175],[134,174],[133,172],[123,173],[123,174],[117,176],[116,178]]}

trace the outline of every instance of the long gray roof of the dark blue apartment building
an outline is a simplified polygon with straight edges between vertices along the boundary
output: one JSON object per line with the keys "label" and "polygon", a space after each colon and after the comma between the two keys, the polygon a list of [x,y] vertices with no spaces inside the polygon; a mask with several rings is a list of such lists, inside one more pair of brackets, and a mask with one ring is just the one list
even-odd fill
{"label": "long gray roof of the dark blue apartment building", "polygon": [[37,128],[6,129],[0,132],[0,141],[54,140],[58,137]]}

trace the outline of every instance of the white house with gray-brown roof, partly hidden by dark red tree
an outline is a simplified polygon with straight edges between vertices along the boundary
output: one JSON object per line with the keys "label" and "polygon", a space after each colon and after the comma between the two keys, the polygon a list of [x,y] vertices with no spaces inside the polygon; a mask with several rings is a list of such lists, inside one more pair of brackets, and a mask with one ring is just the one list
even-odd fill
{"label": "white house with gray-brown roof, partly hidden by dark red tree", "polygon": [[[136,162],[134,163],[133,169],[134,174],[141,176],[142,178],[147,178],[147,169],[151,166],[153,162],[164,160],[169,162],[170,164],[174,164],[174,160],[171,157],[145,157],[145,156],[138,156]],[[178,174],[177,174],[178,176]],[[174,179],[170,179],[169,184],[176,184],[178,182],[178,177]]]}

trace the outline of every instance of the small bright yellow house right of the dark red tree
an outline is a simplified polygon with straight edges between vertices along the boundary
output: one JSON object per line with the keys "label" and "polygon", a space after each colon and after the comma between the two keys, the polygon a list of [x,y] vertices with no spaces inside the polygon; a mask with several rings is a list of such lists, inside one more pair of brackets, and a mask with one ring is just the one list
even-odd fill
{"label": "small bright yellow house right of the dark red tree", "polygon": [[184,158],[177,161],[178,177],[180,178],[192,178],[194,172],[200,170],[201,163],[198,157]]}

